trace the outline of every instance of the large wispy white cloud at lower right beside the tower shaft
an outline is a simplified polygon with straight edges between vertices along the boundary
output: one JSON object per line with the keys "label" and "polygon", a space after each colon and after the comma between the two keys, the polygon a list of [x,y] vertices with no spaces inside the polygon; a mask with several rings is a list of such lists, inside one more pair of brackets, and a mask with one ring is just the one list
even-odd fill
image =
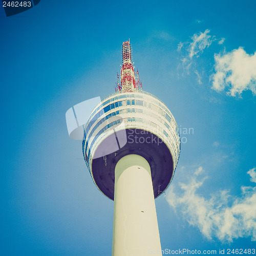
{"label": "large wispy white cloud at lower right beside the tower shaft", "polygon": [[[221,190],[205,199],[197,193],[207,177],[202,167],[196,169],[187,184],[180,183],[183,193],[175,193],[174,185],[166,196],[169,205],[181,210],[190,225],[196,226],[208,239],[233,239],[251,237],[256,241],[256,187],[242,186],[242,196],[234,198],[227,190]],[[248,174],[256,182],[256,168]],[[231,202],[231,204],[230,204]]]}

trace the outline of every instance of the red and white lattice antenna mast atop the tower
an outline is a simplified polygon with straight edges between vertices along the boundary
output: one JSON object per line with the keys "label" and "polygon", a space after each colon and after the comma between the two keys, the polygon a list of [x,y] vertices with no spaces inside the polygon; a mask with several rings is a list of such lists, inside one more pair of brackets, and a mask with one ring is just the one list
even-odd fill
{"label": "red and white lattice antenna mast atop the tower", "polygon": [[[136,75],[136,76],[135,76]],[[117,75],[116,92],[134,92],[136,90],[142,90],[142,84],[139,80],[139,72],[134,72],[132,63],[132,46],[130,39],[123,42],[122,45],[122,68],[119,76]]]}

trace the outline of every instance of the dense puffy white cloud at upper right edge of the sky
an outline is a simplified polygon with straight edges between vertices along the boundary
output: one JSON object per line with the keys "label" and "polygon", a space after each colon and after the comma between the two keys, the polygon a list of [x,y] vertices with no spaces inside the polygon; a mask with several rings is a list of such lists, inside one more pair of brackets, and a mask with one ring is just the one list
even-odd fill
{"label": "dense puffy white cloud at upper right edge of the sky", "polygon": [[227,94],[233,97],[245,90],[256,94],[256,52],[249,55],[240,47],[226,54],[215,54],[215,72],[212,89],[220,92],[227,87]]}

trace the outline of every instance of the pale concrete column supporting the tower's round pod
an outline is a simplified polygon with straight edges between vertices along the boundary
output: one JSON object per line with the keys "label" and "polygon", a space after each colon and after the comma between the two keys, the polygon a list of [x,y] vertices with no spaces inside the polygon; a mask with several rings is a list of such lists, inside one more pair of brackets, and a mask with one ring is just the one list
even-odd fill
{"label": "pale concrete column supporting the tower's round pod", "polygon": [[115,168],[112,256],[162,255],[151,169],[138,155]]}

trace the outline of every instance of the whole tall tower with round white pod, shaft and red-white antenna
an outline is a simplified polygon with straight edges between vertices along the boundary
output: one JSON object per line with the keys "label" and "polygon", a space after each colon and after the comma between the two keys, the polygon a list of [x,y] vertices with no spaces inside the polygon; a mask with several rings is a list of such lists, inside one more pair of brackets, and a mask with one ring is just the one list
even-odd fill
{"label": "whole tall tower with round white pod, shaft and red-white antenna", "polygon": [[116,92],[95,106],[84,126],[84,160],[97,188],[114,200],[112,255],[161,253],[154,199],[174,177],[178,127],[167,106],[142,91],[130,39],[122,44],[117,77]]}

